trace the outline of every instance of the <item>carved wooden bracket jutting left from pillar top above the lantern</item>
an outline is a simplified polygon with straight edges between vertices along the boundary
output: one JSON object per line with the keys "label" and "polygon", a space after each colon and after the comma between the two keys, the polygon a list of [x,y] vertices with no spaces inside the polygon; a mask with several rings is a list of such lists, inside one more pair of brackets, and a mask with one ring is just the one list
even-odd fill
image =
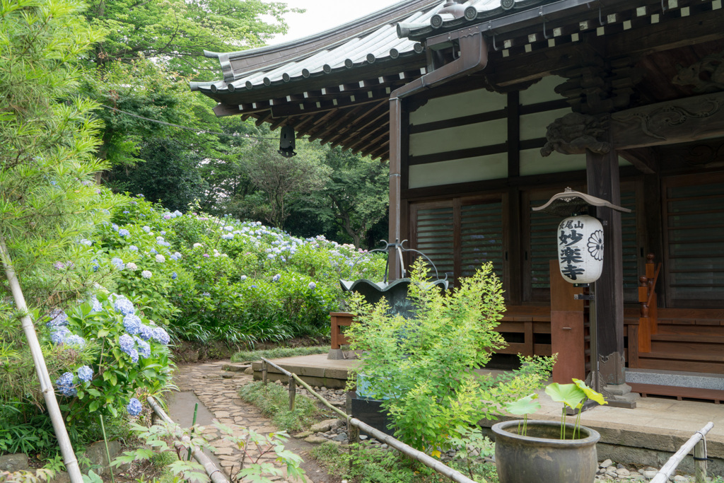
{"label": "carved wooden bracket jutting left from pillar top above the lantern", "polygon": [[607,141],[606,117],[589,116],[572,112],[555,119],[548,125],[542,156],[553,151],[562,154],[584,154],[586,149],[596,154],[606,154],[611,150]]}

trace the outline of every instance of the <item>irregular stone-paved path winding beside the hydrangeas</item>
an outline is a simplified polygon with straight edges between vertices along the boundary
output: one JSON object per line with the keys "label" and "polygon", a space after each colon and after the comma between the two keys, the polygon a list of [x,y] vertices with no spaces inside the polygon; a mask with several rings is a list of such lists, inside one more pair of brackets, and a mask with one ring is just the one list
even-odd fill
{"label": "irregular stone-paved path winding beside the hydrangeas", "polygon": [[[237,394],[239,387],[251,382],[253,379],[251,375],[243,372],[222,371],[222,366],[228,362],[210,361],[198,364],[180,364],[174,378],[176,385],[182,391],[193,391],[206,408],[211,411],[215,419],[234,430],[241,432],[243,428],[248,428],[263,434],[277,431],[271,421],[261,415],[256,406],[245,403],[239,398]],[[216,448],[214,453],[221,461],[222,470],[227,477],[230,476],[232,466],[238,470],[242,453],[236,448],[232,448],[231,442],[220,438],[219,430],[215,427],[205,427],[204,434],[206,439],[211,442],[211,445]],[[307,452],[312,448],[312,445],[300,440],[290,439],[285,447],[294,451],[306,461],[303,468],[307,475],[303,480],[287,479],[285,471],[285,476],[271,478],[272,480],[280,483],[334,481],[334,479],[329,479],[326,472],[316,466],[316,463],[309,461],[310,458]],[[264,460],[274,462],[274,453],[267,455]],[[275,464],[282,467],[279,463]]]}

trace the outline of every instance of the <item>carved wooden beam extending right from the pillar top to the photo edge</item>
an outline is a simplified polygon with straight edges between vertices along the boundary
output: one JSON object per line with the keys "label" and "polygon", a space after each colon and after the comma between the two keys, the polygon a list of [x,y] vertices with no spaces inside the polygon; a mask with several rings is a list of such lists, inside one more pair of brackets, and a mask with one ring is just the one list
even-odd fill
{"label": "carved wooden beam extending right from the pillar top to the photo edge", "polygon": [[724,136],[724,92],[615,112],[610,127],[617,151]]}

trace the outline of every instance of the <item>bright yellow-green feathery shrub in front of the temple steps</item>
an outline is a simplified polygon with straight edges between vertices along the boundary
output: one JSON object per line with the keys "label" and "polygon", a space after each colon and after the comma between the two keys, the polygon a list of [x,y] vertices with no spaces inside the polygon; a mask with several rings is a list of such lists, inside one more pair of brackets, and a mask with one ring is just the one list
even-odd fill
{"label": "bright yellow-green feathery shrub in front of the temple steps", "polygon": [[[358,374],[369,382],[366,394],[382,399],[395,437],[420,450],[437,450],[460,437],[461,428],[492,419],[503,403],[536,387],[547,372],[523,364],[500,377],[477,374],[504,344],[494,327],[502,318],[500,280],[485,264],[453,293],[432,289],[428,270],[418,261],[409,298],[415,319],[387,314],[387,302],[369,306],[353,298],[350,311],[360,324],[347,332],[350,347],[364,350]],[[355,386],[350,379],[349,387]],[[361,385],[358,381],[358,391]]]}

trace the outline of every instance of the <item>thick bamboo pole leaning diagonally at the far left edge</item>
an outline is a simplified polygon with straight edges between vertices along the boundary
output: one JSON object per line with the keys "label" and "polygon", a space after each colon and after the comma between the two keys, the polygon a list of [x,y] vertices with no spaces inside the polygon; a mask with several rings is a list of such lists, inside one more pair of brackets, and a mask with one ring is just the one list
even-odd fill
{"label": "thick bamboo pole leaning diagonally at the far left edge", "polygon": [[80,473],[80,467],[78,466],[78,461],[75,458],[73,445],[70,442],[70,437],[68,437],[68,432],[65,428],[63,414],[60,412],[58,400],[55,397],[53,382],[50,380],[48,367],[46,366],[45,358],[43,357],[43,350],[38,342],[38,334],[35,333],[35,326],[28,315],[28,306],[25,303],[25,295],[22,295],[22,288],[20,287],[20,282],[17,280],[17,274],[15,274],[15,269],[12,266],[10,253],[5,245],[5,238],[2,233],[0,233],[0,259],[2,259],[2,264],[5,268],[5,276],[7,277],[8,285],[10,285],[10,291],[12,292],[12,297],[14,298],[17,311],[22,314],[20,317],[22,330],[25,332],[25,337],[28,339],[28,346],[30,347],[30,353],[33,355],[35,374],[38,374],[38,381],[41,383],[41,391],[43,392],[43,398],[45,399],[46,407],[48,408],[48,413],[53,423],[55,436],[58,438],[60,453],[63,456],[63,464],[65,465],[65,469],[68,471],[71,483],[83,483],[83,474]]}

